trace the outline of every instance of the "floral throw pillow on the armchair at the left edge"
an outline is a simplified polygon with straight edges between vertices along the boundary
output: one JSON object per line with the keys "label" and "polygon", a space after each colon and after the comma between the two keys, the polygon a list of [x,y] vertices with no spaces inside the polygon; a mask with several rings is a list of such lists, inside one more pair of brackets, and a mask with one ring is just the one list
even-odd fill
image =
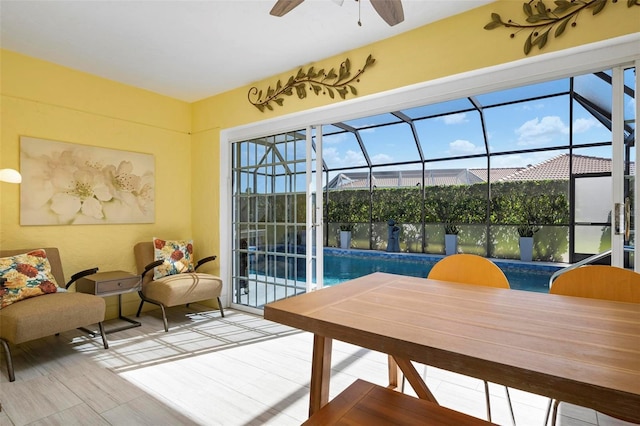
{"label": "floral throw pillow on the armchair at the left edge", "polygon": [[0,309],[29,297],[59,291],[51,273],[47,252],[43,249],[0,259]]}

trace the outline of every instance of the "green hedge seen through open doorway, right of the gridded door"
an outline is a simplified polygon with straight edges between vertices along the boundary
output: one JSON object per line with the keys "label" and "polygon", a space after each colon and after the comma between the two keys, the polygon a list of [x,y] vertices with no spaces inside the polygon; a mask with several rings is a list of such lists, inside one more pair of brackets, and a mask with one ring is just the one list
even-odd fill
{"label": "green hedge seen through open doorway, right of the gridded door", "polygon": [[[487,184],[330,191],[329,223],[386,222],[568,225],[568,182],[494,183],[487,212]],[[371,202],[371,204],[370,204]],[[424,218],[423,209],[424,207]]]}

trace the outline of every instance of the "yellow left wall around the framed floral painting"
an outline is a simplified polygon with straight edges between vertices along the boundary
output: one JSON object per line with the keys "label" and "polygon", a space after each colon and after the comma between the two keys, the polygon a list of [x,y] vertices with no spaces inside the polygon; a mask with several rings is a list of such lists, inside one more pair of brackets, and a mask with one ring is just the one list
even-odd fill
{"label": "yellow left wall around the framed floral painting", "polygon": [[[58,247],[68,279],[93,266],[135,271],[135,242],[191,236],[188,103],[13,52],[2,51],[1,59],[3,168],[20,168],[21,135],[151,153],[156,167],[153,224],[20,226],[19,185],[0,184],[3,248]],[[135,305],[137,295],[127,296]],[[109,312],[115,314],[112,299]]]}

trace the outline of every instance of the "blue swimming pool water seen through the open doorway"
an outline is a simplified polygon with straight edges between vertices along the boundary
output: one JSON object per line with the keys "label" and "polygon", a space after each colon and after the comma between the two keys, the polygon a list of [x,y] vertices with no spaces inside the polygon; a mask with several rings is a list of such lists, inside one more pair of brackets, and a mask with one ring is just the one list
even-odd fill
{"label": "blue swimming pool water seen through the open doorway", "polygon": [[[440,259],[442,256],[325,248],[324,285],[339,284],[372,272],[426,277]],[[511,288],[540,293],[549,291],[549,278],[563,267],[538,262],[492,260],[507,276]]]}

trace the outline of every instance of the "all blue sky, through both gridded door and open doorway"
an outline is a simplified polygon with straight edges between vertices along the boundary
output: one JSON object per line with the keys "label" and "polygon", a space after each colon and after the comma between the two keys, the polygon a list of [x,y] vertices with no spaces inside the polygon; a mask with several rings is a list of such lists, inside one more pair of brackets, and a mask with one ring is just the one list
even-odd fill
{"label": "all blue sky, through both gridded door and open doorway", "polygon": [[[608,77],[610,71],[601,74]],[[628,69],[624,74],[625,85],[635,91],[635,74]],[[401,111],[413,119],[420,148],[427,161],[427,169],[485,168],[486,157],[455,157],[483,155],[485,135],[492,153],[492,168],[514,168],[535,165],[568,152],[570,135],[574,147],[611,141],[610,130],[579,102],[571,100],[568,92],[571,79],[539,83],[515,89],[508,89],[476,96],[473,101],[483,110],[486,128],[483,131],[481,115],[474,103],[467,98],[454,99],[433,105]],[[573,79],[574,92],[589,99],[604,111],[611,110],[611,84],[594,74],[576,76]],[[526,101],[522,101],[527,99]],[[625,120],[634,126],[637,102],[625,95]],[[570,109],[573,108],[573,116]],[[430,118],[424,118],[430,117]],[[411,127],[399,122],[391,113],[364,117],[343,122],[358,129],[369,158],[382,170],[419,170],[420,163],[395,164],[419,161],[420,155]],[[388,124],[395,123],[395,124]],[[385,125],[388,124],[388,125]],[[366,159],[355,135],[345,132],[335,125],[323,125],[323,159],[329,169],[349,169],[366,171]],[[293,136],[292,136],[293,135]],[[304,131],[292,132],[265,138],[268,142],[290,138],[293,143],[280,145],[281,158],[271,157],[268,162],[278,163],[296,159],[293,166],[304,171]],[[265,154],[266,144],[243,144],[248,148],[240,156],[243,165],[260,163]],[[523,150],[549,149],[538,152]],[[556,148],[556,149],[553,149]],[[243,148],[245,149],[245,148]],[[611,158],[611,147],[589,147],[574,150],[575,154],[601,158]],[[495,154],[495,155],[493,155]],[[277,173],[284,173],[283,166],[276,166]],[[292,166],[289,166],[292,167]],[[338,173],[329,173],[329,180]],[[324,176],[323,176],[324,177]],[[252,186],[253,178],[247,175],[242,186]],[[257,188],[267,191],[270,183],[265,179]],[[278,183],[277,192],[286,191],[284,183]],[[297,179],[296,191],[304,191],[303,179]]]}

